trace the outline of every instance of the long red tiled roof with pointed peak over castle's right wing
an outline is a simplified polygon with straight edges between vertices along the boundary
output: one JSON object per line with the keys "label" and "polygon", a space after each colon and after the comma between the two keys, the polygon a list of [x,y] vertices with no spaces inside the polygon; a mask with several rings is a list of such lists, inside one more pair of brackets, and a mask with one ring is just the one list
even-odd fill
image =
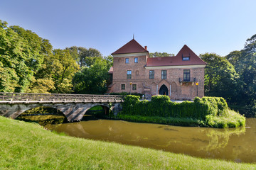
{"label": "long red tiled roof with pointed peak over castle's right wing", "polygon": [[[190,57],[190,60],[183,61],[182,57]],[[148,58],[146,67],[157,66],[178,66],[178,65],[200,65],[207,64],[203,62],[187,45],[184,45],[178,54],[174,57],[154,57]]]}

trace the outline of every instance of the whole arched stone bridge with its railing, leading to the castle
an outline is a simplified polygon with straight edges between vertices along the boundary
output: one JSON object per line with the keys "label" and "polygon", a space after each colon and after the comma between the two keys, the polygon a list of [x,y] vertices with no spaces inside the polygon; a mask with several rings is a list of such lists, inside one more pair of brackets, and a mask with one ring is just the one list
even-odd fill
{"label": "whole arched stone bridge with its railing, leading to the castle", "polygon": [[0,92],[0,115],[17,118],[21,113],[40,106],[56,108],[68,121],[81,120],[94,106],[111,109],[117,114],[122,108],[123,96],[91,94],[24,94]]}

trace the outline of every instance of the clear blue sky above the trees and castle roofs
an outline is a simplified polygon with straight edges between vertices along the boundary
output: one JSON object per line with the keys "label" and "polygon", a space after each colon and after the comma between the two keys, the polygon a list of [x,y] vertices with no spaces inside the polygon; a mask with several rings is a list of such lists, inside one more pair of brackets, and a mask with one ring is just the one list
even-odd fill
{"label": "clear blue sky above the trees and castle roofs", "polygon": [[0,0],[0,20],[32,30],[53,48],[107,56],[134,39],[149,52],[197,55],[242,50],[256,34],[255,0]]}

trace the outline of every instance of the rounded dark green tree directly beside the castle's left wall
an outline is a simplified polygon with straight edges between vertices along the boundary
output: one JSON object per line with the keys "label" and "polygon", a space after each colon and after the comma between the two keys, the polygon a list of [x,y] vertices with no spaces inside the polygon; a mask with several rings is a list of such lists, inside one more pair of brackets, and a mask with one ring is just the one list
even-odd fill
{"label": "rounded dark green tree directly beside the castle's left wall", "polygon": [[107,61],[97,58],[90,67],[83,67],[73,78],[74,90],[78,94],[104,94],[107,91]]}

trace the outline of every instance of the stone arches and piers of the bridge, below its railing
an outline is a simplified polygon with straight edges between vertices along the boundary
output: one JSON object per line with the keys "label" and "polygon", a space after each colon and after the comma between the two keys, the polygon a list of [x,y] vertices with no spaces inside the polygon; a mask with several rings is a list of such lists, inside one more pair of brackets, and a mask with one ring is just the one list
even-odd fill
{"label": "stone arches and piers of the bridge, below its railing", "polygon": [[114,115],[122,110],[121,103],[0,103],[0,115],[8,118],[17,118],[21,113],[37,107],[51,107],[61,111],[69,122],[79,121],[86,111],[94,106],[102,106],[105,112],[110,109]]}

